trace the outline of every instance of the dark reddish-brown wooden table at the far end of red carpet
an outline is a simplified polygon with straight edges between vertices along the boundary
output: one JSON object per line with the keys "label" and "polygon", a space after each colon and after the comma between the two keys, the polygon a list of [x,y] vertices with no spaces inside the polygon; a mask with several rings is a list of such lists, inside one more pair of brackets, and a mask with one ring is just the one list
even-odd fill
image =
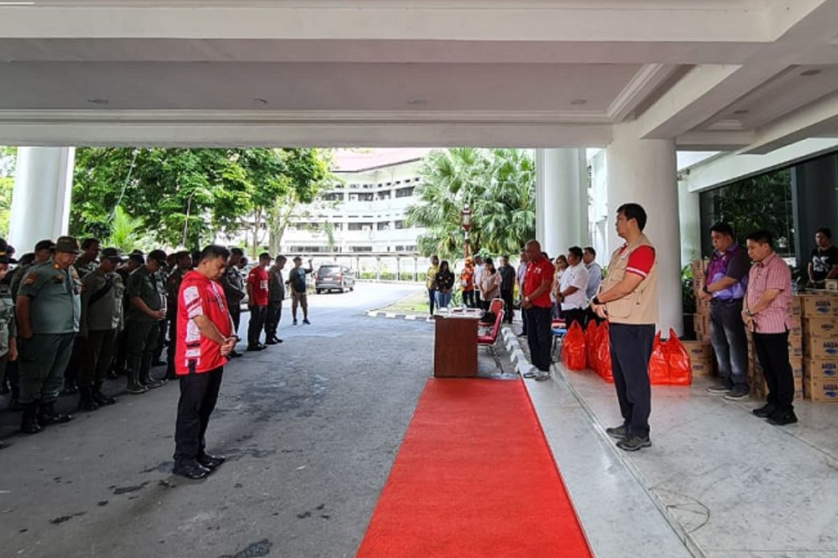
{"label": "dark reddish-brown wooden table at the far end of red carpet", "polygon": [[433,376],[437,378],[477,376],[478,313],[434,315]]}

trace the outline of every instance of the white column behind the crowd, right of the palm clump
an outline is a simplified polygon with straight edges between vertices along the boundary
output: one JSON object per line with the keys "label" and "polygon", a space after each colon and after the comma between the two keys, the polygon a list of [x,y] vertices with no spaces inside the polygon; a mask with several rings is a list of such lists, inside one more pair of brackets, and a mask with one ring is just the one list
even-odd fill
{"label": "white column behind the crowd, right of the palm clump", "polygon": [[535,151],[535,238],[551,258],[589,241],[587,182],[584,149]]}

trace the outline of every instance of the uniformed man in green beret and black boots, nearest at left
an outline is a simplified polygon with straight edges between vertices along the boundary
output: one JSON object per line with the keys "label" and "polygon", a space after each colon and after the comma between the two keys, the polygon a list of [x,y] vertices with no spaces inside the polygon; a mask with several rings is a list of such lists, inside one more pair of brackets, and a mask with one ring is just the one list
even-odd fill
{"label": "uniformed man in green beret and black boots, nearest at left", "polygon": [[38,433],[70,416],[55,412],[62,376],[79,330],[81,282],[72,267],[79,253],[73,237],[60,237],[55,254],[28,270],[18,291],[21,432]]}

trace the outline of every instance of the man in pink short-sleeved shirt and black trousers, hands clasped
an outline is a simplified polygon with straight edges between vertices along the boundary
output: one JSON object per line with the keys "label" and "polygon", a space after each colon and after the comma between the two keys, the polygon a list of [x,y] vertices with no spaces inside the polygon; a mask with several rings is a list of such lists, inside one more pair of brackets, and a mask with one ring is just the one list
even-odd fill
{"label": "man in pink short-sleeved shirt and black trousers, hands clasped", "polygon": [[742,320],[753,332],[753,346],[768,384],[768,402],[753,414],[777,426],[797,422],[794,415],[794,376],[789,364],[789,302],[791,271],[774,253],[768,231],[747,235],[748,275]]}

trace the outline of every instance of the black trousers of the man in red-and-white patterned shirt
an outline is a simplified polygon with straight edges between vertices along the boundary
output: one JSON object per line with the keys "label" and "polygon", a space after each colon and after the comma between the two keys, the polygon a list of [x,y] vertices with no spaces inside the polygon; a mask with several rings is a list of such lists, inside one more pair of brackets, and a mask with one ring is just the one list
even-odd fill
{"label": "black trousers of the man in red-and-white patterned shirt", "polygon": [[224,367],[180,376],[178,418],[174,426],[174,460],[191,461],[204,453],[209,415],[218,401]]}

